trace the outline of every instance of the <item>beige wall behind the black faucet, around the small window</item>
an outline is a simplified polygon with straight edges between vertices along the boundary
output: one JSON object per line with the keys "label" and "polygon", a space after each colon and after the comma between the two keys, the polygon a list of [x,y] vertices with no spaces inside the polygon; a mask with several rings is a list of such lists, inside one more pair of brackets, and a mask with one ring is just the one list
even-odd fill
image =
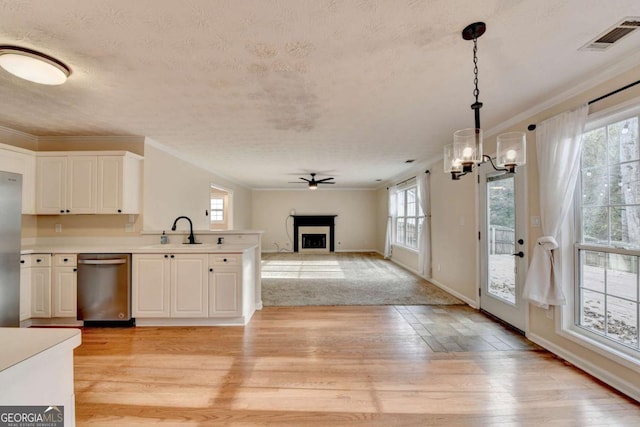
{"label": "beige wall behind the black faucet, around the small window", "polygon": [[[233,191],[233,228],[251,228],[251,191],[194,166],[147,139],[144,145],[143,229],[169,230],[175,218],[188,216],[196,230],[209,229],[211,184]],[[179,224],[180,229],[186,222]]]}

